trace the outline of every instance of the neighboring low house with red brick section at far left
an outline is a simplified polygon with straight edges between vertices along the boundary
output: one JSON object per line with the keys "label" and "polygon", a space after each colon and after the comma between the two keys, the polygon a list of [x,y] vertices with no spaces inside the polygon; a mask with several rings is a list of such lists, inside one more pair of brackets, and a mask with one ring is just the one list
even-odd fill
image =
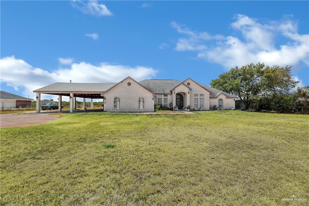
{"label": "neighboring low house with red brick section at far left", "polygon": [[0,91],[0,108],[13,109],[18,107],[30,107],[33,99],[21,97],[9,92]]}

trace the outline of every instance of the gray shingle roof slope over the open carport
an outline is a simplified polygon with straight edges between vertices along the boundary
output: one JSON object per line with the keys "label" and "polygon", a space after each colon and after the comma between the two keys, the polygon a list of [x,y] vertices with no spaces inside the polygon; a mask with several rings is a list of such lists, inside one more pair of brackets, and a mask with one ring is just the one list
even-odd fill
{"label": "gray shingle roof slope over the open carport", "polygon": [[116,83],[65,83],[57,82],[34,90],[40,91],[65,91],[65,92],[105,92]]}

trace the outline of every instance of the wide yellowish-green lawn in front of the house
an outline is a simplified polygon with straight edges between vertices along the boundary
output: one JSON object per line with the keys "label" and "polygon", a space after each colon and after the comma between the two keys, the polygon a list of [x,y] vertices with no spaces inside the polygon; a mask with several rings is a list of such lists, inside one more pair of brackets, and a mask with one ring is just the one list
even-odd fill
{"label": "wide yellowish-green lawn in front of the house", "polygon": [[308,115],[196,113],[2,128],[1,205],[308,204]]}

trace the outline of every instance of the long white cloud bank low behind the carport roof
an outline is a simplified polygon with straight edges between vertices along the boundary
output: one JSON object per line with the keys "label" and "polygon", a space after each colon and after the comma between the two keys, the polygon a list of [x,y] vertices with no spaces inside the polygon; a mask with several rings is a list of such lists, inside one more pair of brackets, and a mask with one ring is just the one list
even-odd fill
{"label": "long white cloud bank low behind the carport roof", "polygon": [[[8,79],[19,82],[32,84],[49,85],[55,82],[72,82],[76,83],[117,83],[127,76],[131,76],[137,81],[150,79],[157,73],[151,67],[129,67],[124,65],[111,65],[100,63],[95,66],[87,62],[73,63],[68,68],[59,68],[54,71],[46,71],[41,68],[34,68],[27,62],[17,59],[14,56],[4,57],[0,62],[1,79]],[[16,91],[21,91],[25,97],[34,94],[32,91],[43,86],[24,84],[19,82],[6,82],[8,86],[13,87]],[[44,98],[57,97],[53,95],[43,95]],[[66,97],[64,97],[65,101]]]}

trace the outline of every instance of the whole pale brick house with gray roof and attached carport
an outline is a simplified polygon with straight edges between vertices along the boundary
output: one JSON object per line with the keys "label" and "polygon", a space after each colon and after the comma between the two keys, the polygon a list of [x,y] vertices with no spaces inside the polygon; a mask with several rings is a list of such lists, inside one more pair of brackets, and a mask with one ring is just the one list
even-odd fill
{"label": "whole pale brick house with gray roof and attached carport", "polygon": [[[213,105],[222,109],[235,108],[234,95],[195,82],[193,79],[184,81],[145,79],[141,82],[127,77],[118,83],[55,83],[34,90],[37,93],[37,104],[40,94],[70,97],[70,111],[75,108],[76,97],[92,99],[102,98],[104,111],[107,112],[152,112],[154,105],[183,109],[209,110]],[[92,105],[92,104],[91,104]],[[61,110],[61,106],[59,106]],[[37,112],[40,108],[37,107]]]}

